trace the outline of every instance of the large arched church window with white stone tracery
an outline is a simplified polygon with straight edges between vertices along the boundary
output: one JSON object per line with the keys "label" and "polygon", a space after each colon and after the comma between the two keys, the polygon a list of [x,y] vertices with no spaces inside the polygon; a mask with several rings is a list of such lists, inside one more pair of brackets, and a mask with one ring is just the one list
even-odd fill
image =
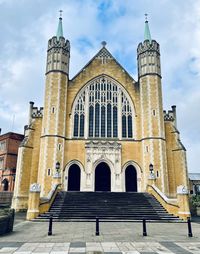
{"label": "large arched church window with white stone tracery", "polygon": [[96,78],[78,94],[73,124],[75,138],[133,138],[132,102],[112,79]]}

